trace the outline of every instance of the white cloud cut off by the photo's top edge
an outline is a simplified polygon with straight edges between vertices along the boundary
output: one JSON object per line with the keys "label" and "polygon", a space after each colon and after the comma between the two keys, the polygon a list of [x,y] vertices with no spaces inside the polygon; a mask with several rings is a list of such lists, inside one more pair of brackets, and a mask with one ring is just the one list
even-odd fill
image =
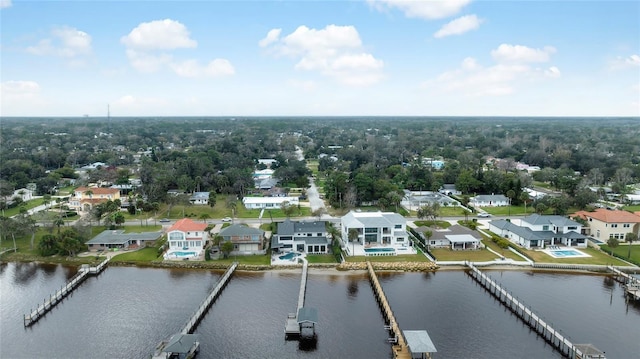
{"label": "white cloud cut off by the photo's top edge", "polygon": [[457,14],[471,0],[368,0],[368,2],[378,11],[396,8],[406,17],[433,20]]}

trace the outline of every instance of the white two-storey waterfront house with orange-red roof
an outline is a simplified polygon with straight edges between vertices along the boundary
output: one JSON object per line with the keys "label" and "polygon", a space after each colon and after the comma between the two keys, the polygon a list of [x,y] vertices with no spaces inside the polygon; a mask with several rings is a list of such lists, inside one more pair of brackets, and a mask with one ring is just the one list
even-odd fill
{"label": "white two-storey waterfront house with orange-red roof", "polygon": [[167,255],[173,252],[195,252],[193,256],[199,256],[209,240],[206,231],[207,224],[196,222],[190,218],[183,218],[174,223],[167,230],[167,243],[169,249]]}

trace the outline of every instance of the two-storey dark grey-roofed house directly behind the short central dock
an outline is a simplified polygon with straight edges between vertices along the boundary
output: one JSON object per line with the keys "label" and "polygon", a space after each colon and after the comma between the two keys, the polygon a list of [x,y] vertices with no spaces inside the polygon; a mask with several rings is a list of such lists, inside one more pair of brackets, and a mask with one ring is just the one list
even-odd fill
{"label": "two-storey dark grey-roofed house directly behind the short central dock", "polygon": [[330,247],[325,221],[293,222],[287,218],[278,223],[278,232],[271,238],[275,251],[326,254]]}

